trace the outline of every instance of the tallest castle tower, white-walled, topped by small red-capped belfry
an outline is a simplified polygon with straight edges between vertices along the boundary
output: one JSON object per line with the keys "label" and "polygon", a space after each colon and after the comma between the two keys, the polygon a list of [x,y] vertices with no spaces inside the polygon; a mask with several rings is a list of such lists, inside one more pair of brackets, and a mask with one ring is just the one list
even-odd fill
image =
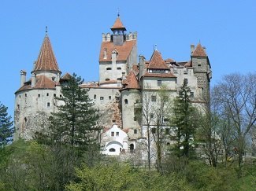
{"label": "tallest castle tower, white-walled, topped by small red-capped belfry", "polygon": [[99,53],[99,83],[101,86],[121,87],[122,76],[128,75],[133,64],[137,64],[137,33],[125,35],[126,28],[118,15],[112,35],[102,34]]}

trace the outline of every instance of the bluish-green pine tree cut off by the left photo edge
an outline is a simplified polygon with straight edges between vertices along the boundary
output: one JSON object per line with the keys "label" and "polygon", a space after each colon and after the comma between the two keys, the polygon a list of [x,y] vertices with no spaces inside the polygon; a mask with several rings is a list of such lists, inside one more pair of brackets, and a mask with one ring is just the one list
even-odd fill
{"label": "bluish-green pine tree cut off by the left photo edge", "polygon": [[13,121],[8,116],[7,107],[0,103],[0,148],[7,145],[9,141],[13,141]]}

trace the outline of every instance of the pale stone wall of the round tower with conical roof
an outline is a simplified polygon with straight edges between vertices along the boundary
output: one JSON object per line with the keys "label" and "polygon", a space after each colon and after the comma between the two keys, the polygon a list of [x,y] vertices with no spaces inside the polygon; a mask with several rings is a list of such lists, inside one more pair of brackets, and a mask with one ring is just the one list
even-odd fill
{"label": "pale stone wall of the round tower with conical roof", "polygon": [[[38,112],[50,115],[50,112],[56,112],[55,105],[57,101],[54,99],[61,95],[61,87],[57,86],[56,89],[32,89],[17,92],[15,97],[15,128],[16,133],[14,139],[19,137],[31,139],[33,132],[40,130],[35,124]],[[35,117],[37,116],[37,117]]]}

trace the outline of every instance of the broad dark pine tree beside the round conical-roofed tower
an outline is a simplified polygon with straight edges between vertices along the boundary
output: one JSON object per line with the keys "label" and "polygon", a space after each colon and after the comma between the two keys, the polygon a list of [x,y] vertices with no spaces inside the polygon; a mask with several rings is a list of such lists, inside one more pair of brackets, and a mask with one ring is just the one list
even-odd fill
{"label": "broad dark pine tree beside the round conical-roofed tower", "polygon": [[61,97],[58,112],[50,116],[50,137],[55,143],[70,145],[72,148],[86,149],[97,142],[98,115],[92,107],[87,90],[80,84],[83,80],[76,74],[61,83]]}

